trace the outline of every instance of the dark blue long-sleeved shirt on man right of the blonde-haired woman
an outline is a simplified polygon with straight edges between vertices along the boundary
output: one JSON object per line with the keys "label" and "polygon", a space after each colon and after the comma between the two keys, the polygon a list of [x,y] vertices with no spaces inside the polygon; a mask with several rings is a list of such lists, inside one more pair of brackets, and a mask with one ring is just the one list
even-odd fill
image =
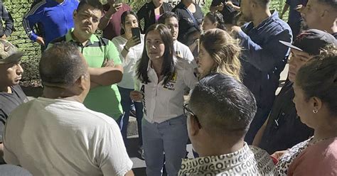
{"label": "dark blue long-sleeved shirt on man right of the blonde-haired woman", "polygon": [[250,22],[241,28],[238,37],[244,48],[243,83],[255,95],[258,107],[271,108],[279,86],[279,74],[289,55],[289,48],[279,40],[291,42],[291,28],[276,11],[256,27]]}

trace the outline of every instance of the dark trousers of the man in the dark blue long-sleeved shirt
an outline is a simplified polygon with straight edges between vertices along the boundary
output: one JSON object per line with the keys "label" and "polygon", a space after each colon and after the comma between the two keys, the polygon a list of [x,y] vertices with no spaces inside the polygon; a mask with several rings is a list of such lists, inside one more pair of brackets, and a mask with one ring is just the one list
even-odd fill
{"label": "dark trousers of the man in the dark blue long-sleeved shirt", "polygon": [[257,107],[257,112],[255,114],[255,117],[252,120],[252,123],[250,123],[250,129],[248,130],[248,132],[245,136],[245,142],[248,145],[252,145],[252,141],[254,141],[254,138],[255,138],[255,135],[256,135],[257,131],[260,130],[264,121],[267,120],[267,117],[269,115],[270,110],[271,110],[271,108],[262,109],[260,107]]}

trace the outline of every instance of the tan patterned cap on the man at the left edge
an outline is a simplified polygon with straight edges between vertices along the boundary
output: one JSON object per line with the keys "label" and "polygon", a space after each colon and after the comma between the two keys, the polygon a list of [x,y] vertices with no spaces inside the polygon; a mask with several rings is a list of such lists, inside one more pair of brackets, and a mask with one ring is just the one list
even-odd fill
{"label": "tan patterned cap on the man at the left edge", "polygon": [[23,52],[18,51],[9,41],[0,39],[0,64],[8,64],[21,60]]}

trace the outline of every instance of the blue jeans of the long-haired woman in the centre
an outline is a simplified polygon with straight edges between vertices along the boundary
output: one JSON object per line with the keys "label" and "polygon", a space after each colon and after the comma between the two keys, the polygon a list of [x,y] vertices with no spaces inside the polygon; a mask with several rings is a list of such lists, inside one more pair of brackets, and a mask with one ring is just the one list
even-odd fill
{"label": "blue jeans of the long-haired woman in the centre", "polygon": [[186,117],[181,115],[161,123],[149,123],[143,119],[143,148],[146,175],[159,176],[164,165],[169,176],[178,175],[181,159],[186,156],[188,140]]}

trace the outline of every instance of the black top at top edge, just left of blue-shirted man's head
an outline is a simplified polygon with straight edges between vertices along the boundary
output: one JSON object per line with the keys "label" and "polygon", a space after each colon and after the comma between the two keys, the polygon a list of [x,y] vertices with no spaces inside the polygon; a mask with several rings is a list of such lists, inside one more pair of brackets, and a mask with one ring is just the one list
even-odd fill
{"label": "black top at top edge, just left of blue-shirted man's head", "polygon": [[[220,11],[220,13],[223,14],[223,20],[225,21],[225,23],[232,23],[234,16],[238,13],[238,11],[235,11],[235,9],[233,9],[230,6],[226,6],[225,2],[227,0],[213,0],[212,4],[210,4],[210,6],[218,6],[221,3],[223,3],[223,11]],[[234,4],[235,6],[240,6],[240,0],[231,0],[232,4]]]}

